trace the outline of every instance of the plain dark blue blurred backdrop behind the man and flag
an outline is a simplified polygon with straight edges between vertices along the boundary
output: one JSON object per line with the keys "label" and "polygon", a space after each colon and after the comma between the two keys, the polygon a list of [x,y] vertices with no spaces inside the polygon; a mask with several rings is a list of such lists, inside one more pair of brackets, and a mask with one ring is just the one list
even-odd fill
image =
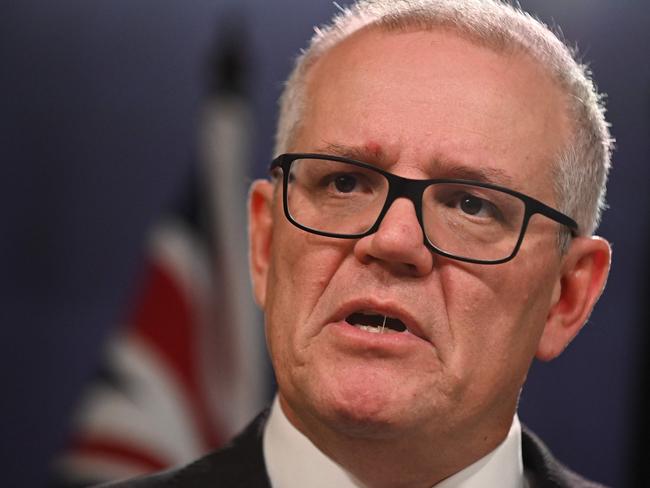
{"label": "plain dark blue blurred backdrop behind the man and flag", "polygon": [[[579,46],[608,94],[617,150],[599,232],[614,249],[607,291],[566,353],[533,367],[520,415],[575,470],[650,486],[650,5],[521,3]],[[192,170],[220,31],[242,21],[261,176],[282,81],[312,26],[334,11],[321,0],[2,2],[3,486],[46,485],[133,293],[147,229]]]}

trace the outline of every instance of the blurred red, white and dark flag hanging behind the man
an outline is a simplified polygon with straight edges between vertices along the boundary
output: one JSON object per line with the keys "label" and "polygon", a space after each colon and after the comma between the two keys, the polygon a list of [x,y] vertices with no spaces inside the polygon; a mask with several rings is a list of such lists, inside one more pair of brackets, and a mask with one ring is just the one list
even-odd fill
{"label": "blurred red, white and dark flag hanging behind the man", "polygon": [[142,286],[56,460],[57,486],[185,463],[240,430],[267,398],[246,257],[243,30],[227,32],[236,35],[221,36],[211,61],[201,164],[182,205],[151,233]]}

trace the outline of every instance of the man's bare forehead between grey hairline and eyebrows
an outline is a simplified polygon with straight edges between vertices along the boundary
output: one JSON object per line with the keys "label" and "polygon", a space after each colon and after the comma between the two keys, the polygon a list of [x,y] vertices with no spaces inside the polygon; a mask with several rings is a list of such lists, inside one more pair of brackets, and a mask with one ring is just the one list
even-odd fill
{"label": "man's bare forehead between grey hairline and eyebrows", "polygon": [[568,134],[564,96],[532,60],[443,29],[353,34],[311,67],[306,100],[296,150],[338,145],[423,173],[480,165],[524,191],[552,186]]}

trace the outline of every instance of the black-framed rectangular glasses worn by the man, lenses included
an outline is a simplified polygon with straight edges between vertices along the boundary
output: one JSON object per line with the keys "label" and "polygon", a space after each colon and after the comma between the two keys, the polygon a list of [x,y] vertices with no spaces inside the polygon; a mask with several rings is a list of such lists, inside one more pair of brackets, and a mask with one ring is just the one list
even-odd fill
{"label": "black-framed rectangular glasses worn by the man, lenses included", "polygon": [[534,214],[577,233],[570,217],[509,188],[472,180],[414,180],[370,164],[324,154],[282,154],[284,214],[313,234],[358,239],[379,229],[397,198],[413,202],[426,246],[469,263],[514,258]]}

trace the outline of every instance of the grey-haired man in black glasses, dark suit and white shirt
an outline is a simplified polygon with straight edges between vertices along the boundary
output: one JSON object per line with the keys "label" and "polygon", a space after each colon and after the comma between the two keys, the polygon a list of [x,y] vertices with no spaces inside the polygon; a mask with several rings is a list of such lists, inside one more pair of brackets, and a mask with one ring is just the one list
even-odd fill
{"label": "grey-haired man in black glasses, dark suit and white shirt", "polygon": [[361,1],[316,32],[250,192],[276,401],[125,486],[596,486],[516,416],[609,270],[588,75],[492,0]]}

